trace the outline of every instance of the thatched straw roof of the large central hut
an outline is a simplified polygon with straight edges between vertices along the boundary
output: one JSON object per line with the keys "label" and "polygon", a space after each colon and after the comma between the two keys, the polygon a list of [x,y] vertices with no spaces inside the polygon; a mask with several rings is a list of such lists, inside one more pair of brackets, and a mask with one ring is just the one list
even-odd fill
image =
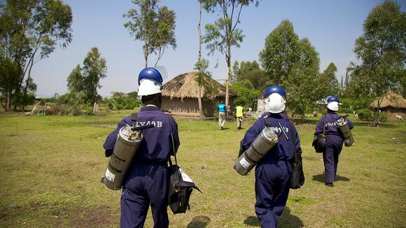
{"label": "thatched straw roof of the large central hut", "polygon": [[[199,85],[195,80],[196,72],[183,73],[169,82],[165,83],[162,89],[162,96],[173,98],[197,98],[199,95]],[[218,83],[216,80],[210,78],[211,86],[217,87],[218,92],[214,94],[216,97],[225,97],[225,87]],[[204,88],[202,88],[202,96],[204,94]],[[237,94],[230,91],[230,97],[237,97]]]}

